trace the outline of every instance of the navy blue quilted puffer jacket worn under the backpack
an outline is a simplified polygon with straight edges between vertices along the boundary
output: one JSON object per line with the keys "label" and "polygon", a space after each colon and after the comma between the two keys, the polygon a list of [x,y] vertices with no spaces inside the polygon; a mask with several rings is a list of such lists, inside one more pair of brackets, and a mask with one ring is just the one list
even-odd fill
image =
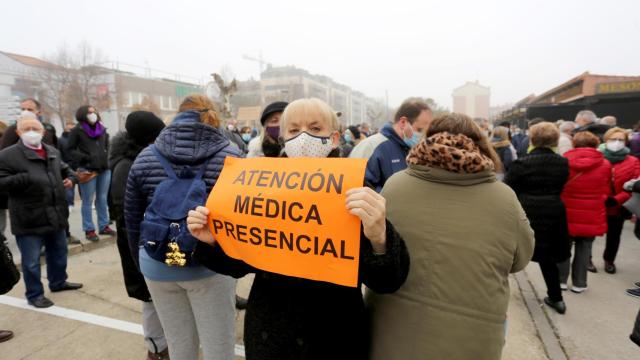
{"label": "navy blue quilted puffer jacket worn under the backpack", "polygon": [[[199,118],[200,114],[195,111],[179,113],[171,125],[162,130],[154,144],[169,160],[176,174],[180,174],[186,167],[199,168],[211,159],[203,176],[209,192],[218,180],[224,159],[227,156],[242,155],[237,148],[230,145],[220,130],[201,123]],[[131,255],[136,263],[140,223],[147,206],[151,203],[156,186],[167,177],[150,147],[142,150],[129,171],[124,216]]]}

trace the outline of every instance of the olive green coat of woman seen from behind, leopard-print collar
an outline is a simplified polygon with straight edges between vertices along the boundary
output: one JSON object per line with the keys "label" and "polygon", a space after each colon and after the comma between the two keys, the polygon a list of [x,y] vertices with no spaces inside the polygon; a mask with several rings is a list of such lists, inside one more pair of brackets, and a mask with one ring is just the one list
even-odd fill
{"label": "olive green coat of woman seen from behind, leopard-print collar", "polygon": [[534,245],[514,192],[490,171],[412,165],[382,195],[411,269],[397,292],[367,291],[371,359],[499,360],[508,276],[527,265]]}

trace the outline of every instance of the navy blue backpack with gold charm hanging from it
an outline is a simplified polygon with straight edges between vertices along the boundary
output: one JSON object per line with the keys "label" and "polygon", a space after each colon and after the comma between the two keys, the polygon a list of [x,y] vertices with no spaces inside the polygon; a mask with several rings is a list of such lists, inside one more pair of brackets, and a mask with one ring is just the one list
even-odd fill
{"label": "navy blue backpack with gold charm hanging from it", "polygon": [[207,200],[207,186],[202,180],[208,161],[194,174],[187,167],[177,175],[169,161],[155,145],[151,150],[167,173],[168,179],[156,187],[151,204],[140,224],[140,240],[149,256],[168,266],[195,266],[192,258],[198,240],[187,229],[189,210]]}

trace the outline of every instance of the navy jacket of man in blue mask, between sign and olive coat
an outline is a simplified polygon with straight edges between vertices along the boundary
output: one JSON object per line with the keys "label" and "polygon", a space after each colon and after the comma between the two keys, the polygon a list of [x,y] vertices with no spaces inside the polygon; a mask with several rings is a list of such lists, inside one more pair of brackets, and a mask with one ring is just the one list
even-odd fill
{"label": "navy jacket of man in blue mask, between sign and olive coat", "polygon": [[365,172],[367,183],[373,185],[377,192],[382,190],[384,183],[391,175],[407,168],[407,154],[411,149],[396,134],[390,123],[380,129],[380,134],[386,137],[386,140],[379,143],[373,150],[373,154],[367,161]]}

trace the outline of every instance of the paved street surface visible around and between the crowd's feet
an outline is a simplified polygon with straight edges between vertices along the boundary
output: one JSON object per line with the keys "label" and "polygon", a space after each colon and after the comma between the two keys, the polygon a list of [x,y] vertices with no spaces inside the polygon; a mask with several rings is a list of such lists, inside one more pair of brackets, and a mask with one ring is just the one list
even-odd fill
{"label": "paved street surface visible around and between the crowd's feet", "polygon": [[[79,217],[78,212],[72,214],[76,234],[80,233]],[[640,264],[635,261],[640,256],[640,241],[635,240],[629,229],[625,231],[619,274],[611,276],[601,271],[590,275],[586,293],[566,295],[567,315],[549,313],[569,359],[637,359],[640,354],[627,340],[640,301],[623,293],[640,275]],[[140,304],[125,293],[113,239],[104,238],[102,242],[102,247],[91,247],[92,250],[69,258],[69,279],[83,282],[85,287],[78,292],[47,292],[57,305],[51,311],[38,312],[28,307],[22,282],[0,297],[0,329],[10,328],[16,333],[13,340],[0,344],[3,360],[144,358]],[[602,251],[602,242],[597,241],[596,254]],[[600,262],[597,264],[601,266]],[[542,295],[544,284],[537,264],[531,264],[525,275],[538,295]],[[238,293],[248,295],[251,281],[250,277],[240,280]],[[521,292],[514,278],[510,284],[503,359],[548,359],[523,299],[523,294],[533,295]],[[238,345],[242,345],[243,315],[244,312],[237,315]],[[242,350],[237,348],[238,359],[242,358]]]}

